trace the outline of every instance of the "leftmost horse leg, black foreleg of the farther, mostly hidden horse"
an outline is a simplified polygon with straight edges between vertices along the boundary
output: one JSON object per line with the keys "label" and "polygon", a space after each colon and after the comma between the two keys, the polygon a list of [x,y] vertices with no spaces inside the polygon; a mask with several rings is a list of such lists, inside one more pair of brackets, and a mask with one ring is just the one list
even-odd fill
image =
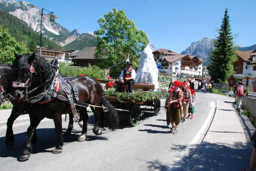
{"label": "leftmost horse leg, black foreleg of the farther, mostly hidden horse", "polygon": [[15,115],[13,113],[11,113],[11,115],[9,116],[8,120],[7,120],[7,130],[6,130],[6,136],[5,136],[5,144],[6,147],[12,147],[14,145],[14,135],[13,135],[13,130],[12,130],[12,125],[13,122],[18,118],[19,115]]}

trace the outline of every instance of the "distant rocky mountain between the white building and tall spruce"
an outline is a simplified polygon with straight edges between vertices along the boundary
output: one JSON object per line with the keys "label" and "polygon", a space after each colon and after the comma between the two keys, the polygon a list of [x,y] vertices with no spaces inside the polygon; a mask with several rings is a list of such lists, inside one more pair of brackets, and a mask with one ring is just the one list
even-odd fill
{"label": "distant rocky mountain between the white building and tall spruce", "polygon": [[199,41],[192,42],[191,45],[186,50],[183,50],[181,54],[196,55],[200,59],[203,59],[206,64],[208,64],[210,56],[209,54],[214,49],[213,41],[214,39],[206,37]]}

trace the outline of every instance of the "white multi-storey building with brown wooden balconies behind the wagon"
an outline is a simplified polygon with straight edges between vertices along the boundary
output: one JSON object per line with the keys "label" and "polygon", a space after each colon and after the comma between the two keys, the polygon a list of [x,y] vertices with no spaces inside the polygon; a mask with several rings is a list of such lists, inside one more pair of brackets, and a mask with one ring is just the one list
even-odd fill
{"label": "white multi-storey building with brown wooden balconies behind the wagon", "polygon": [[161,62],[161,73],[166,73],[171,76],[177,74],[184,75],[200,75],[202,76],[202,59],[196,55],[181,55],[172,50],[158,49],[152,52],[155,60]]}

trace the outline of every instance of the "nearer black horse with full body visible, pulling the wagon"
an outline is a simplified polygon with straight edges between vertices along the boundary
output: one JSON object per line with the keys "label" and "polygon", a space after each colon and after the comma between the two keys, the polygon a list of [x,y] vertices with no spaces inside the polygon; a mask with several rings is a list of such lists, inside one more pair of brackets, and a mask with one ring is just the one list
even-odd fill
{"label": "nearer black horse with full body visible, pulling the wagon", "polygon": [[[31,68],[33,67],[33,72]],[[16,100],[26,100],[27,92],[31,97],[35,97],[38,94],[44,92],[51,85],[51,77],[53,74],[51,64],[42,57],[36,56],[34,53],[24,54],[24,55],[15,55],[15,61],[12,65],[12,83],[18,83],[21,85],[27,85],[25,87],[15,87],[12,88],[12,96]],[[107,107],[107,114],[109,114],[110,129],[116,130],[119,125],[119,118],[114,107],[107,102],[104,97],[103,89],[101,85],[93,78],[90,77],[77,77],[71,81],[78,89],[79,102],[80,103],[89,103],[95,106],[104,106]],[[67,85],[71,89],[70,85]],[[60,89],[59,94],[65,96],[63,89]],[[40,121],[43,118],[51,118],[54,120],[55,130],[57,133],[57,145],[53,150],[53,153],[61,153],[63,146],[63,138],[61,135],[62,132],[62,117],[64,113],[71,113],[70,105],[68,102],[54,98],[48,103],[31,103],[31,109],[34,112],[33,120],[31,121],[30,127],[27,130],[27,140],[24,147],[24,151],[20,156],[20,160],[27,160],[30,157],[32,150],[31,139],[36,130],[36,127],[39,125]],[[77,109],[80,113],[80,118],[83,121],[82,133],[79,136],[78,141],[85,141],[87,136],[87,121],[88,114],[86,108],[77,106]],[[93,128],[93,133],[95,135],[101,135],[101,130],[98,127],[100,116],[104,114],[102,108],[91,107],[92,112],[94,113],[95,125]]]}

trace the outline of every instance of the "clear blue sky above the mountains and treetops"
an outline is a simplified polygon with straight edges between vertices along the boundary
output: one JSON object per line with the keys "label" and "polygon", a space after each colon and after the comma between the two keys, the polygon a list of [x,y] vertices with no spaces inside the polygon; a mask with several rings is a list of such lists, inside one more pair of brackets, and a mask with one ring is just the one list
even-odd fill
{"label": "clear blue sky above the mountains and treetops", "polygon": [[80,33],[98,29],[97,20],[116,7],[144,30],[157,48],[180,53],[193,41],[215,38],[226,8],[236,43],[256,44],[256,0],[26,0],[54,11],[56,21]]}

